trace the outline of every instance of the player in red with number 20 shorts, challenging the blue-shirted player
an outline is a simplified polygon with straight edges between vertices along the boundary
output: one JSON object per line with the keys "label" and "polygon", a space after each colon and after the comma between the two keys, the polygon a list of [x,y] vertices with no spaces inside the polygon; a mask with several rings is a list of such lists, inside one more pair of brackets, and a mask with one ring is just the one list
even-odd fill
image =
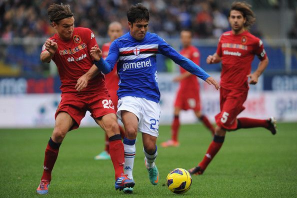
{"label": "player in red with number 20 shorts, challenging the blue-shirted player", "polygon": [[[119,134],[112,101],[105,86],[103,74],[93,65],[90,49],[96,45],[93,32],[88,28],[74,27],[69,5],[52,4],[47,15],[56,33],[46,39],[40,54],[42,62],[53,60],[58,68],[61,101],[55,113],[55,125],[45,149],[43,174],[36,189],[48,193],[51,171],[66,133],[79,126],[86,110],[109,137],[110,157],[115,170],[115,189],[134,186],[133,180],[123,174],[124,150]],[[86,74],[95,69],[96,72]]]}

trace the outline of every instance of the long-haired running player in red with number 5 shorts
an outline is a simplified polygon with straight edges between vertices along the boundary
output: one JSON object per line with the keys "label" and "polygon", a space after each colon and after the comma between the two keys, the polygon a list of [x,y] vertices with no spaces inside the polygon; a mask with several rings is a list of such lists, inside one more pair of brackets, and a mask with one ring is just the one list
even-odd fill
{"label": "long-haired running player in red with number 5 shorts", "polygon": [[[211,159],[220,149],[226,131],[239,128],[264,127],[272,134],[276,133],[276,120],[237,118],[244,109],[243,103],[248,92],[248,83],[256,84],[258,77],[268,64],[262,41],[247,31],[255,21],[251,6],[245,2],[233,2],[229,11],[231,31],[224,32],[217,45],[216,52],[208,55],[208,64],[222,62],[220,112],[215,115],[215,134],[205,156],[197,166],[189,169],[190,174],[202,174]],[[260,62],[251,73],[251,62],[256,55]],[[248,79],[249,77],[249,79]]]}

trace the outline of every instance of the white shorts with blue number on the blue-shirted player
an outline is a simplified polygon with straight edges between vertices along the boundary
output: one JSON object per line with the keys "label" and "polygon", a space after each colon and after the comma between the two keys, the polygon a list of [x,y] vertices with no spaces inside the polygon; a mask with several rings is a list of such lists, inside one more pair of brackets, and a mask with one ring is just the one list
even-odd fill
{"label": "white shorts with blue number on the blue-shirted player", "polygon": [[134,113],[138,118],[138,131],[157,137],[159,135],[160,105],[143,97],[124,96],[118,100],[116,115],[121,110]]}

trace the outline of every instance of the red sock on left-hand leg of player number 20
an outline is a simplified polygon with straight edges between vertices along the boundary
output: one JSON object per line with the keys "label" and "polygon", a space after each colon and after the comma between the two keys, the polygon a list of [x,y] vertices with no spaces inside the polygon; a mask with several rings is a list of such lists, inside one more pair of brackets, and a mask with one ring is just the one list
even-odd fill
{"label": "red sock on left-hand leg of player number 20", "polygon": [[51,170],[53,168],[54,162],[57,158],[60,143],[55,143],[49,138],[47,146],[45,148],[44,162],[43,162],[43,174],[41,180],[51,180]]}

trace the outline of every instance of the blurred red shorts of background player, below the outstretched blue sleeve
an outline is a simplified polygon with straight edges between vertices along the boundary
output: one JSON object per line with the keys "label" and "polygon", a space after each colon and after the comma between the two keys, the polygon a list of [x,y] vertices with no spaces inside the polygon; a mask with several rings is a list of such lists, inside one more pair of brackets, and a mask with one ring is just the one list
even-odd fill
{"label": "blurred red shorts of background player, below the outstretched blue sleeve", "polygon": [[179,107],[183,110],[193,109],[194,111],[200,111],[199,90],[187,91],[179,88],[174,107]]}

